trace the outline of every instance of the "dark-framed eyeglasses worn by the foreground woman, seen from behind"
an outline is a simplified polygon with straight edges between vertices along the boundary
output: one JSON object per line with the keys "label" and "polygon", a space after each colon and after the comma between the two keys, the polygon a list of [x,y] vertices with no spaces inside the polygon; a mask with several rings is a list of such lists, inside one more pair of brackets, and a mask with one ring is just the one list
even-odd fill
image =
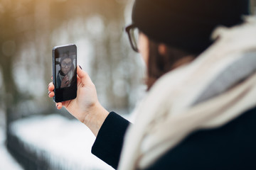
{"label": "dark-framed eyeglasses worn by the foreground woman, seen from behind", "polygon": [[134,24],[131,24],[125,28],[125,31],[128,34],[129,42],[132,46],[132,50],[135,52],[139,52],[138,48],[138,40],[139,40],[139,29],[134,26]]}

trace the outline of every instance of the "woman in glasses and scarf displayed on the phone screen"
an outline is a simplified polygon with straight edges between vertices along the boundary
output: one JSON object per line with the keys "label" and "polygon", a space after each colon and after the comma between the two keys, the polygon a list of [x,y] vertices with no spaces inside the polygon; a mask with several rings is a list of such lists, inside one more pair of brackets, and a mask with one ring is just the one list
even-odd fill
{"label": "woman in glasses and scarf displayed on the phone screen", "polygon": [[60,57],[60,71],[57,75],[56,88],[70,86],[74,71],[75,67],[72,58],[69,57],[68,53],[64,53],[63,56]]}

